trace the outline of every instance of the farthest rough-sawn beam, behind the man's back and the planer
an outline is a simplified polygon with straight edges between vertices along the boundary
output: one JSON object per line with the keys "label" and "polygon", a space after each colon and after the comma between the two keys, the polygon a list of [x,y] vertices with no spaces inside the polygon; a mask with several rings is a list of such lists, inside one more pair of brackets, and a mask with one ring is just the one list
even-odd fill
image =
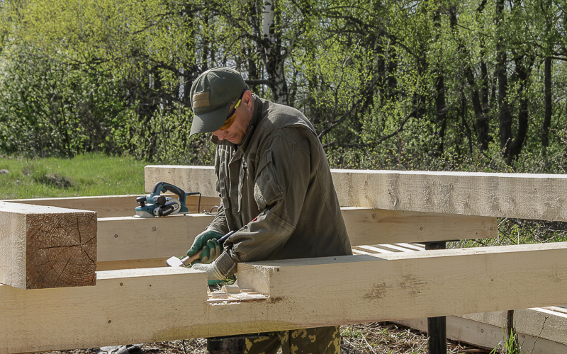
{"label": "farthest rough-sawn beam, behind the man's back and the planer", "polygon": [[[213,167],[145,166],[146,188],[166,176],[216,195]],[[345,207],[567,221],[566,175],[332,170],[332,178]]]}

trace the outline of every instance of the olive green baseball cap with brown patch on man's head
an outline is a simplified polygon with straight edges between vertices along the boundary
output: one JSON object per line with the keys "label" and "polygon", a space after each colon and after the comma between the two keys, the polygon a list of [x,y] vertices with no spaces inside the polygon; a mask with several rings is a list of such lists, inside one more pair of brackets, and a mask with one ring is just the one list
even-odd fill
{"label": "olive green baseball cap with brown patch on man's head", "polygon": [[215,67],[199,75],[191,86],[190,135],[219,130],[228,118],[232,101],[246,88],[240,73],[228,67]]}

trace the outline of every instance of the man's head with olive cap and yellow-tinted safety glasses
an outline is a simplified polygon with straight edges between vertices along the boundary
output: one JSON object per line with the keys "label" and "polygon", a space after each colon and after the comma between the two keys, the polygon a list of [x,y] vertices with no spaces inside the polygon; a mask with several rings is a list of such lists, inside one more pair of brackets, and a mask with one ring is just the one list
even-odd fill
{"label": "man's head with olive cap and yellow-tinted safety glasses", "polygon": [[[240,121],[242,114],[237,113],[240,113],[238,110],[242,111],[241,105],[247,105],[251,98],[249,93],[244,79],[235,70],[215,67],[203,72],[191,86],[191,106],[193,108],[191,135],[199,132],[213,132],[221,140],[229,139],[235,144],[240,144],[242,140],[233,141],[230,137],[234,135],[229,135],[229,133],[235,132],[236,127],[242,127],[243,122]],[[218,135],[217,132],[221,134]]]}

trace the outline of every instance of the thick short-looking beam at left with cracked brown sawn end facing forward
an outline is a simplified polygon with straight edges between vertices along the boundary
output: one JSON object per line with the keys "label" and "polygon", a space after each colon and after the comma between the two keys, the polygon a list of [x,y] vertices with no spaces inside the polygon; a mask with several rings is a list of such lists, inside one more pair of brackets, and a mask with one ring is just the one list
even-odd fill
{"label": "thick short-looking beam at left with cracked brown sawn end facing forward", "polygon": [[96,212],[0,202],[0,282],[95,285]]}

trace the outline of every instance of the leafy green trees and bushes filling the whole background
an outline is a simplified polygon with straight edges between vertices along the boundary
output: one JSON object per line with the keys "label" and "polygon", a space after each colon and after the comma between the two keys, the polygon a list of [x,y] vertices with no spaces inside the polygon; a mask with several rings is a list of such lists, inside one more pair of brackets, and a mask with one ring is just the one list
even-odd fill
{"label": "leafy green trees and bushes filling the whole background", "polygon": [[3,1],[0,151],[128,152],[159,163],[210,164],[207,137],[187,134],[189,87],[204,70],[227,65],[255,93],[302,110],[333,166],[563,173],[563,4],[263,6]]}

